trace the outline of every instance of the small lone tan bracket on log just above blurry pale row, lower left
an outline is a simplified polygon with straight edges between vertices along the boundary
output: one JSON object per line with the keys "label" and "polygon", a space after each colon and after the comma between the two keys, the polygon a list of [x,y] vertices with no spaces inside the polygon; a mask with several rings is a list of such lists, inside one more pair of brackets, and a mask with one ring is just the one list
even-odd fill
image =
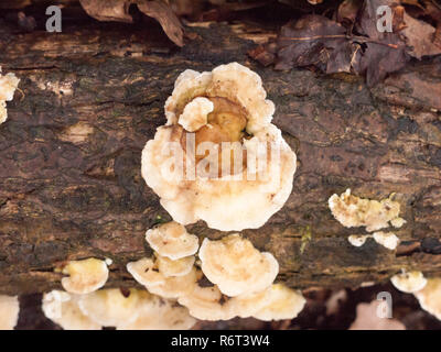
{"label": "small lone tan bracket on log just above blurry pale row, lower left", "polygon": [[80,261],[71,261],[62,272],[67,277],[62,278],[63,288],[71,294],[89,294],[101,288],[109,277],[109,270],[105,261],[90,257]]}

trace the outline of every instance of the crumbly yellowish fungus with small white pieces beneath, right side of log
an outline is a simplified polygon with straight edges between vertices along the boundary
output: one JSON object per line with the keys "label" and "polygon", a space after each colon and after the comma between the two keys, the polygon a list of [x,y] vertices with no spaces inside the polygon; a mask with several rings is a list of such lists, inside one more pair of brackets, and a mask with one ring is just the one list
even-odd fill
{"label": "crumbly yellowish fungus with small white pieces beneath, right side of log", "polygon": [[406,223],[406,220],[399,217],[400,204],[391,198],[392,195],[379,201],[359,198],[353,196],[351,189],[346,189],[341,196],[332,195],[327,202],[334,218],[344,227],[365,227],[367,232],[373,232],[349,235],[347,240],[352,245],[361,246],[367,239],[373,238],[386,249],[395,250],[399,243],[398,237],[394,232],[378,231],[389,226],[400,228]]}

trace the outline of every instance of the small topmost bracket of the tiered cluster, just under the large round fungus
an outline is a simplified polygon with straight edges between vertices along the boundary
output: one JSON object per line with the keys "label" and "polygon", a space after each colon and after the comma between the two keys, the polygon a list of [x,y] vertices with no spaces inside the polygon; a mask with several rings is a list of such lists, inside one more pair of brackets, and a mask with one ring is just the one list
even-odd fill
{"label": "small topmost bracket of the tiered cluster, just under the large round fungus", "polygon": [[174,221],[148,230],[146,240],[159,255],[173,261],[193,255],[200,248],[197,237],[190,234],[182,224]]}

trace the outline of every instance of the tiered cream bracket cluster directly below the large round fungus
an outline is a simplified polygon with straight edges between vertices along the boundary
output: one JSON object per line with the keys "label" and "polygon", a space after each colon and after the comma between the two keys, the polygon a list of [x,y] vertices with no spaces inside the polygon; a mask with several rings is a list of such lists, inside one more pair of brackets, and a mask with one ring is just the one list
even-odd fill
{"label": "tiered cream bracket cluster directly below the large round fungus", "polygon": [[[190,315],[202,320],[228,320],[234,317],[255,317],[261,320],[292,319],[303,308],[302,295],[280,284],[273,284],[279,264],[270,253],[261,253],[249,240],[230,234],[218,241],[204,239],[198,251],[200,261],[187,261],[190,271],[185,275],[170,275],[168,266],[161,266],[170,248],[184,249],[193,238],[186,231],[170,240],[181,226],[171,222],[161,224],[147,233],[147,241],[154,240],[155,258],[143,257],[127,264],[128,272],[150,293],[186,307]],[[179,239],[179,240],[176,240]],[[196,242],[197,243],[197,242]],[[168,265],[180,263],[189,256],[173,252]],[[194,256],[193,256],[194,258]],[[189,270],[189,268],[187,268]]]}

